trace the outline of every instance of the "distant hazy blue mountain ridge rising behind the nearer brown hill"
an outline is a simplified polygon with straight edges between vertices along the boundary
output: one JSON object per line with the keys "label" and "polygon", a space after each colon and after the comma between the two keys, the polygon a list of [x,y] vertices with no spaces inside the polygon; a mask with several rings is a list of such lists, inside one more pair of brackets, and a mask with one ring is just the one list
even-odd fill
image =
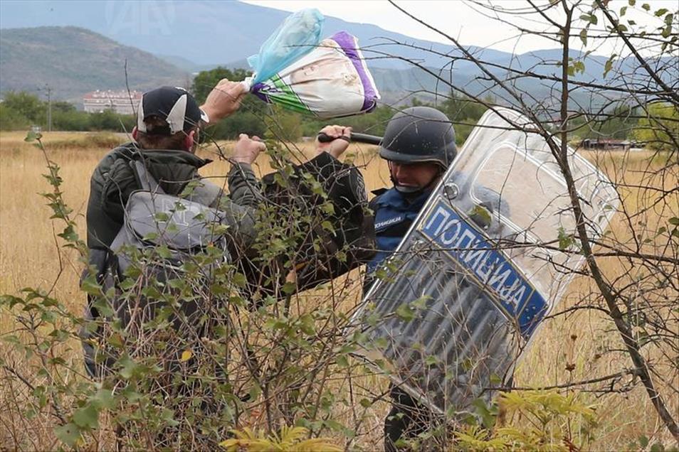
{"label": "distant hazy blue mountain ridge rising behind the nearer brown hill", "polygon": [[[289,15],[288,11],[219,0],[0,2],[0,28],[88,28],[123,45],[193,63],[193,68],[184,69],[226,65],[256,53]],[[442,66],[441,57],[423,55],[420,50],[402,48],[389,41],[432,48],[441,53],[451,50],[450,46],[441,43],[421,41],[367,23],[350,23],[333,17],[325,18],[323,30],[325,36],[342,30],[352,33],[364,48],[370,48],[366,50],[367,58],[379,58],[375,63],[380,68],[407,66],[399,60],[380,58],[382,53],[395,53],[396,50],[404,58],[415,58],[432,67]],[[483,52],[485,58],[493,59],[508,55],[493,49]]]}

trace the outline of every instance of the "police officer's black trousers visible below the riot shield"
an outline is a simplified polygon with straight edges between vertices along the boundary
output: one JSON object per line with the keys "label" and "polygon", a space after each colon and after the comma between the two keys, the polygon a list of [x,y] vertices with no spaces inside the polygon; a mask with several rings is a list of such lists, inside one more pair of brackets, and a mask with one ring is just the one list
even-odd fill
{"label": "police officer's black trousers visible below the riot shield", "polygon": [[407,450],[396,447],[396,442],[399,439],[407,441],[416,438],[419,434],[441,425],[440,416],[416,402],[403,389],[392,384],[389,395],[391,410],[384,419],[384,451]]}

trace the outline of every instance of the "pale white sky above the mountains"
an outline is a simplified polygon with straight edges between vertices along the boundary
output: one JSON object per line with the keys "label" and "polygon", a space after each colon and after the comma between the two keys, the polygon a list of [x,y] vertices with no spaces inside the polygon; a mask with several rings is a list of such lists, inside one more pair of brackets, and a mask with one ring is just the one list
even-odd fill
{"label": "pale white sky above the mountains", "polygon": [[[389,4],[386,0],[245,0],[246,3],[270,8],[283,9],[285,11],[298,11],[304,8],[317,8],[322,14],[335,16],[349,22],[372,23],[389,31],[396,31],[414,38],[426,39],[428,41],[439,41],[447,43],[446,38],[438,33],[428,30],[425,26],[417,23],[413,19],[404,15]],[[544,0],[536,0],[537,4],[544,4]],[[459,39],[465,45],[480,45],[498,50],[517,51],[524,53],[530,50],[544,48],[555,48],[557,45],[539,36],[520,34],[515,27],[494,21],[485,14],[490,11],[483,6],[488,5],[488,0],[399,0],[396,4],[401,6],[411,14],[423,19],[436,28],[445,31],[447,34]],[[583,4],[591,4],[591,0],[586,0]],[[647,3],[651,6],[651,12],[641,11],[641,4]],[[493,1],[495,6],[502,6],[505,9],[532,9],[527,0],[502,0]],[[611,0],[610,3],[615,11],[628,5],[628,0]],[[653,16],[653,11],[660,8],[676,10],[677,0],[638,0],[636,9],[629,8],[626,14],[627,19],[633,19],[636,23],[648,26],[659,26],[661,21]],[[636,11],[639,10],[639,11]],[[505,16],[506,17],[506,16]],[[677,18],[675,18],[676,20]],[[537,14],[524,16],[511,16],[512,23],[520,24],[530,29],[544,29],[544,19]],[[602,21],[599,21],[601,26]],[[658,24],[658,25],[656,25]],[[576,48],[579,47],[579,39],[574,42]],[[591,50],[591,47],[588,48]],[[616,49],[604,45],[596,49],[596,53],[613,53]]]}

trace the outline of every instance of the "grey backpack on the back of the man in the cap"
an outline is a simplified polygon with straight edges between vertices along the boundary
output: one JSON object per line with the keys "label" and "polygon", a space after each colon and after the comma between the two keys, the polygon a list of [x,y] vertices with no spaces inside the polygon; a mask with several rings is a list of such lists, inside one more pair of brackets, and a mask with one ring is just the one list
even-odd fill
{"label": "grey backpack on the back of the man in the cap", "polygon": [[[228,238],[223,224],[223,212],[193,200],[168,195],[139,160],[130,161],[141,189],[133,192],[125,205],[125,220],[113,240],[105,259],[98,267],[98,281],[105,294],[114,295],[100,301],[90,299],[85,320],[103,316],[119,323],[128,333],[161,316],[172,324],[177,336],[198,334],[196,326],[204,329],[202,305],[212,298],[209,290],[216,267],[231,262]],[[193,198],[208,199],[211,193],[198,193]],[[220,250],[217,259],[197,259],[208,245]],[[137,265],[143,262],[141,266]],[[191,291],[194,296],[181,297],[181,289],[174,284],[186,278],[186,264],[191,263]],[[125,274],[136,276],[134,296],[122,296],[121,283]],[[196,276],[197,275],[197,276]],[[130,278],[132,280],[132,278]],[[149,287],[152,289],[149,290]],[[128,291],[130,287],[127,288]],[[184,289],[186,294],[186,289]],[[163,298],[174,300],[172,306]],[[103,308],[103,309],[102,309]],[[91,329],[91,327],[90,327]],[[117,359],[116,350],[102,344],[102,327],[80,331],[85,348],[85,365],[90,375],[107,372]],[[99,339],[100,347],[92,343]],[[98,353],[102,357],[96,359]],[[172,352],[170,352],[172,353]],[[172,357],[168,362],[177,362]],[[104,367],[101,367],[101,365]]]}

